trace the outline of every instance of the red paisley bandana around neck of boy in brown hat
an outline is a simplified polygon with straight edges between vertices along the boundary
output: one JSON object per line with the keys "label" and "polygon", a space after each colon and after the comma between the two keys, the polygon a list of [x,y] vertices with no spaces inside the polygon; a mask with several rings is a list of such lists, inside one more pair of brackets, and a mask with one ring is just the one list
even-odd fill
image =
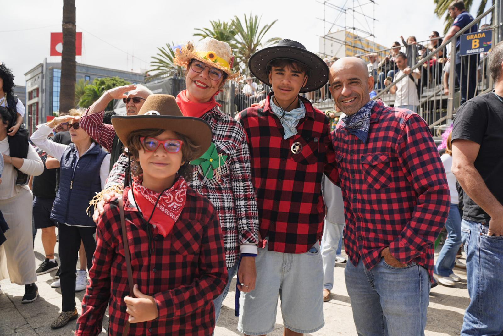
{"label": "red paisley bandana around neck of boy in brown hat", "polygon": [[142,180],[135,179],[131,188],[134,201],[137,203],[136,206],[146,220],[150,218],[153,211],[149,223],[155,225],[159,233],[165,237],[171,232],[184,209],[185,200],[187,199],[187,182],[183,177],[178,177],[173,187],[162,193],[155,206],[157,211],[154,211],[154,204],[160,194],[143,187],[141,183]]}

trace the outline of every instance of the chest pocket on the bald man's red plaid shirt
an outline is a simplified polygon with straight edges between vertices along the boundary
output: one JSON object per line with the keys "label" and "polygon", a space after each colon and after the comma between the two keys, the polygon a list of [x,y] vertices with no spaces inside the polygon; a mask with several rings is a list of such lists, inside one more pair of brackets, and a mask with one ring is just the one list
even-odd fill
{"label": "chest pocket on the bald man's red plaid shirt", "polygon": [[373,189],[388,187],[391,183],[389,154],[367,154],[362,155],[360,158],[367,187]]}

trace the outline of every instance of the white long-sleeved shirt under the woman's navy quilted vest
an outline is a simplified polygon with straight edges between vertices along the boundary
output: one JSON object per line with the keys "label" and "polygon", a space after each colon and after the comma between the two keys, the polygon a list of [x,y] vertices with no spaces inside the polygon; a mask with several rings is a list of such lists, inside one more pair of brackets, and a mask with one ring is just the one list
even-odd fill
{"label": "white long-sleeved shirt under the woman's navy quilted vest", "polygon": [[[52,132],[52,128],[47,126],[46,124],[37,125],[37,130],[32,134],[30,139],[33,141],[35,145],[39,148],[43,149],[47,154],[55,157],[58,161],[61,162],[61,157],[63,156],[64,151],[69,147],[69,145],[65,145],[63,143],[57,143],[50,141],[47,139],[47,136]],[[86,154],[91,148],[96,146],[96,143],[92,143],[89,149],[84,153]],[[75,146],[75,152],[77,155],[77,162],[79,157],[81,156],[78,152],[77,147]],[[82,154],[83,155],[83,154]],[[76,162],[75,162],[76,163]],[[74,169],[77,165],[74,165]],[[105,182],[108,178],[108,173],[110,169],[110,153],[105,156],[100,166],[100,182],[101,189],[105,187]]]}

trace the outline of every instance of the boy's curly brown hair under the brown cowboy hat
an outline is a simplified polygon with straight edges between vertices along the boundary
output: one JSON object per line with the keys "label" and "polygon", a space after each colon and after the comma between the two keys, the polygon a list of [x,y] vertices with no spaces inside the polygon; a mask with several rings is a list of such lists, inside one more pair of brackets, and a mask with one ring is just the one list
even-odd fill
{"label": "boy's curly brown hair under the brown cowboy hat", "polygon": [[[131,132],[131,134],[129,134],[127,138],[127,143],[125,145],[128,149],[128,153],[135,159],[134,161],[131,161],[131,173],[134,176],[140,176],[141,174],[143,174],[140,162],[138,161],[139,159],[138,151],[139,149],[144,149],[143,144],[140,141],[140,138],[155,137],[161,134],[162,132],[164,132],[163,129],[149,128],[149,129],[133,131]],[[192,165],[189,162],[197,158],[196,153],[199,146],[196,146],[185,135],[177,132],[175,132],[175,134],[180,140],[184,142],[184,144],[182,145],[182,160],[185,161],[185,163],[182,166],[180,166],[178,174],[183,176],[185,181],[190,181],[193,176],[193,171],[192,171]]]}

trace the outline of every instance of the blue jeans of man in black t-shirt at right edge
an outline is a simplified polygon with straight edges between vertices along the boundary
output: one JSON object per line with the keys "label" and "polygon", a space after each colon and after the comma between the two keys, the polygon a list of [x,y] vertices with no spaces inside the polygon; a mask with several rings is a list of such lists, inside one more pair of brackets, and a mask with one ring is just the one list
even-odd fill
{"label": "blue jeans of man in black t-shirt at right edge", "polygon": [[461,336],[503,335],[503,237],[488,236],[488,227],[461,221],[470,295]]}

